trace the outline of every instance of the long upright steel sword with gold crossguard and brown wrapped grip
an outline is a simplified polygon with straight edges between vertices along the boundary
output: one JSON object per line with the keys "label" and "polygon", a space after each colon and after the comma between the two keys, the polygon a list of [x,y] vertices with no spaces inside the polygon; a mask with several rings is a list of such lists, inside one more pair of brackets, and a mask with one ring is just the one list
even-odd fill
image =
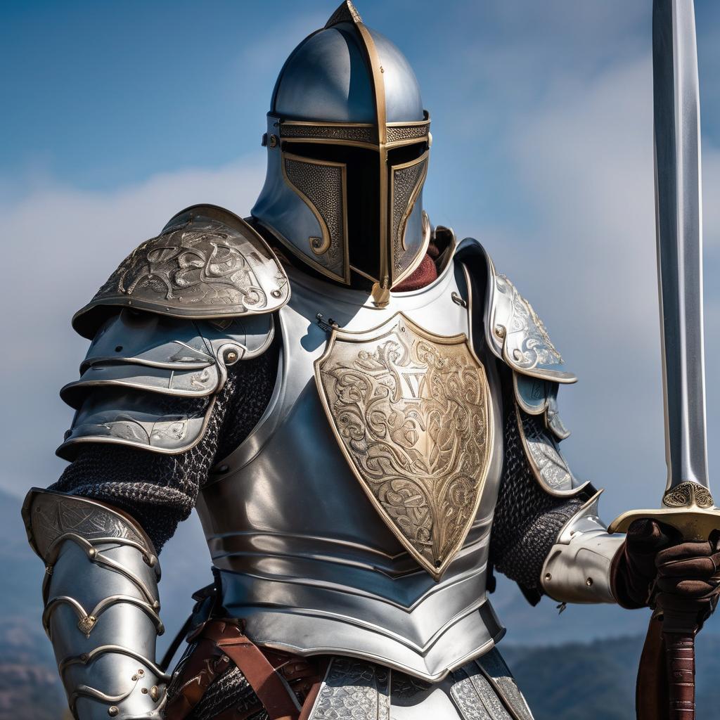
{"label": "long upright steel sword with gold crossguard and brown wrapped grip", "polygon": [[[672,526],[683,540],[720,528],[708,486],[703,360],[700,94],[693,0],[654,0],[655,225],[662,330],[667,485],[658,510],[631,510],[608,528],[634,520]],[[672,635],[672,637],[670,637]],[[670,718],[693,720],[694,632],[666,634]]]}

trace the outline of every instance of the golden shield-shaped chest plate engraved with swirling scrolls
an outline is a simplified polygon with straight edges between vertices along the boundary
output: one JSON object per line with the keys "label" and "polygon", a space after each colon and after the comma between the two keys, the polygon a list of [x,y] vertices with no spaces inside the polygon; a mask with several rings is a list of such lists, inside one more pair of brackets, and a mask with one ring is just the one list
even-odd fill
{"label": "golden shield-shaped chest plate engraved with swirling scrolls", "polygon": [[472,526],[492,449],[490,387],[467,337],[433,335],[402,312],[334,330],[315,380],[364,491],[439,580]]}

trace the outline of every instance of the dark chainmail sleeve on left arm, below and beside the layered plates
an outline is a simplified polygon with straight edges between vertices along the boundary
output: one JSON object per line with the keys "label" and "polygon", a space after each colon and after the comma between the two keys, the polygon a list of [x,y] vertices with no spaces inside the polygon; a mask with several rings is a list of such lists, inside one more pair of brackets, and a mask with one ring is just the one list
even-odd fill
{"label": "dark chainmail sleeve on left arm, below and beside the layered plates", "polygon": [[[264,413],[275,384],[277,349],[240,361],[228,372],[202,441],[177,455],[122,445],[87,444],[50,490],[95,498],[125,510],[156,550],[189,516],[215,459],[233,451]],[[202,413],[209,400],[166,398],[168,413]]]}

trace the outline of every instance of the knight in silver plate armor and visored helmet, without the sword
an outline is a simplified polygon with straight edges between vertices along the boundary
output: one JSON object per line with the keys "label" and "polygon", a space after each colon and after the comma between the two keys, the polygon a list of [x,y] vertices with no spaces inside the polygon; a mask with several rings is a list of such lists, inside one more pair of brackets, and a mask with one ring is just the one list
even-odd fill
{"label": "knight in silver plate armor and visored helmet, without the sword", "polygon": [[[575,375],[431,223],[431,141],[343,2],[280,72],[251,214],[181,210],[73,317],[69,464],[23,515],[76,719],[530,720],[494,572],[533,604],[714,608],[715,544],[600,521],[560,449]],[[215,577],[170,672],[159,554],[194,508]]]}

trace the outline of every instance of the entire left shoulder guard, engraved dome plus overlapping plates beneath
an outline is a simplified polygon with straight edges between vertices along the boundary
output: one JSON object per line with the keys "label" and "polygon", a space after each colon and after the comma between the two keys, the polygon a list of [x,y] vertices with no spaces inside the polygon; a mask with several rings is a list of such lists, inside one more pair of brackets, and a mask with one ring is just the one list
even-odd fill
{"label": "entire left shoulder guard, engraved dome plus overlapping plates beneath", "polygon": [[[228,368],[262,354],[289,284],[264,240],[212,206],[176,215],[73,318],[93,337],[58,455],[84,443],[177,454],[202,440]],[[98,325],[99,323],[99,325]]]}

